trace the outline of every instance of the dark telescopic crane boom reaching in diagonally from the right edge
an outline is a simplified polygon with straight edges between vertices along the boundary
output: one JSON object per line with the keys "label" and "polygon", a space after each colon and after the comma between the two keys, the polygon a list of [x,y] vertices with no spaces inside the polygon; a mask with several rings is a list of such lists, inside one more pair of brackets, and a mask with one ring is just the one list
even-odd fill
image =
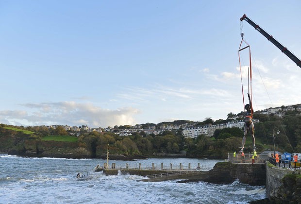
{"label": "dark telescopic crane boom reaching in diagonally from the right edge", "polygon": [[263,36],[265,36],[268,41],[270,41],[272,44],[274,44],[276,47],[278,47],[287,57],[289,57],[292,61],[294,61],[297,66],[301,67],[301,60],[296,57],[293,53],[291,53],[286,47],[281,45],[273,36],[268,34],[266,31],[264,31],[262,28],[260,28],[259,25],[254,23],[250,18],[248,18],[245,14],[240,18],[240,21],[247,21],[252,27],[254,27],[255,30],[260,32]]}

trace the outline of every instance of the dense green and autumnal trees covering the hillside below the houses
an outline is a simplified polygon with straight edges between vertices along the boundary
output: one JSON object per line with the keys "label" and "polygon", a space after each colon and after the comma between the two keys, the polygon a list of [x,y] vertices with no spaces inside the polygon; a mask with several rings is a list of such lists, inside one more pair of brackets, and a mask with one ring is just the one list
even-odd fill
{"label": "dense green and autumnal trees covering the hillside below the houses", "polygon": [[[228,114],[228,118],[235,116]],[[265,148],[273,149],[273,139],[275,139],[275,148],[277,151],[301,152],[301,115],[295,111],[288,111],[283,119],[275,115],[254,114],[255,119],[260,122],[255,123],[255,138],[258,152]],[[207,118],[203,122],[195,123],[196,126],[208,124],[226,123],[233,119],[213,121]],[[156,125],[167,126],[173,122],[163,122]],[[191,121],[175,121],[176,124],[192,123]],[[174,124],[172,124],[174,125]],[[1,126],[6,126],[1,124]],[[0,126],[0,128],[1,128]],[[144,124],[145,127],[155,126],[155,124]],[[119,126],[119,128],[128,128],[129,126]],[[68,132],[63,126],[56,129],[45,126],[19,127],[34,132],[28,136],[29,140],[40,140],[44,135],[67,135]],[[280,134],[275,134],[276,130]],[[229,152],[237,151],[241,145],[243,130],[232,127],[217,129],[213,137],[199,135],[197,138],[184,138],[183,129],[174,131],[164,131],[162,134],[147,135],[145,132],[134,132],[130,136],[119,136],[113,132],[82,132],[78,142],[93,155],[105,155],[107,144],[110,145],[110,154],[123,154],[127,156],[152,156],[154,153],[178,154],[186,151],[188,157],[207,157],[224,158]],[[7,132],[7,131],[2,131]],[[14,131],[9,131],[14,132]],[[17,134],[17,133],[15,133]],[[76,134],[74,134],[76,136]],[[274,137],[273,137],[274,136]],[[251,142],[251,137],[247,138]],[[246,144],[247,144],[246,143]],[[247,145],[248,146],[248,145]],[[248,148],[248,147],[247,147]],[[247,149],[248,150],[248,149]],[[251,148],[250,148],[250,151]]]}

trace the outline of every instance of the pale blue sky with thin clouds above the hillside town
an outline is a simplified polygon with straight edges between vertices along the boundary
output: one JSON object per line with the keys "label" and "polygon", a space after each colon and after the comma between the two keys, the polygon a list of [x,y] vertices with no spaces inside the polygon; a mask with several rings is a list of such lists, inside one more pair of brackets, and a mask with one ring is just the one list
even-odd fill
{"label": "pale blue sky with thin clouds above the hillside town", "polygon": [[300,0],[0,0],[0,123],[108,127],[301,103]]}

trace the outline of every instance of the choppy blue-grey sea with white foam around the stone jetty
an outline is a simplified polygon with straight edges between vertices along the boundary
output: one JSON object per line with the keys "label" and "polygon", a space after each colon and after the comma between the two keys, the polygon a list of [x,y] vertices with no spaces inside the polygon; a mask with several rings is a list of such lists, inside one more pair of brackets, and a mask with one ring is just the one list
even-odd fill
{"label": "choppy blue-grey sea with white foam around the stone jetty", "polygon": [[[197,158],[149,158],[135,161],[109,160],[109,165],[136,168],[212,168],[223,160]],[[94,172],[103,159],[18,157],[0,154],[0,204],[247,204],[264,199],[264,186],[239,180],[229,185],[206,182],[141,182],[143,176],[105,176]],[[77,178],[80,173],[81,177]],[[83,176],[83,178],[82,178]]]}

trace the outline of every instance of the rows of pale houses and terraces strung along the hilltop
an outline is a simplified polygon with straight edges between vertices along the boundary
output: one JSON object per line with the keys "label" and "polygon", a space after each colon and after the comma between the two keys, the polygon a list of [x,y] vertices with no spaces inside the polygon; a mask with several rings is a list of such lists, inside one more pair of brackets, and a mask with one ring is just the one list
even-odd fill
{"label": "rows of pale houses and terraces strung along the hilltop", "polygon": [[[296,113],[300,114],[301,112],[301,104],[293,105],[293,106],[282,106],[282,107],[276,107],[276,108],[269,108],[265,110],[258,110],[255,111],[255,113],[258,114],[265,114],[265,115],[275,115],[277,117],[283,118],[285,113],[288,111],[296,111]],[[221,124],[206,124],[203,126],[198,126],[200,122],[192,122],[192,123],[184,123],[182,125],[173,125],[171,122],[164,123],[160,126],[157,126],[156,124],[140,124],[135,126],[114,126],[114,127],[106,127],[106,128],[92,128],[88,127],[86,125],[83,126],[62,126],[65,130],[69,130],[72,132],[77,133],[77,135],[80,135],[81,131],[86,132],[114,132],[115,134],[119,136],[129,136],[132,135],[134,132],[145,132],[146,135],[149,134],[162,134],[166,130],[182,130],[182,134],[185,138],[196,138],[199,135],[206,135],[208,137],[212,137],[214,132],[217,129],[223,129],[223,128],[230,128],[230,127],[238,127],[243,128],[244,127],[244,121],[241,120],[243,116],[243,112],[239,114],[233,114],[232,117],[228,117],[228,122],[221,123]],[[254,123],[259,123],[260,121],[258,119],[254,119]],[[47,126],[48,128],[55,129],[56,127],[61,125],[52,125]]]}

